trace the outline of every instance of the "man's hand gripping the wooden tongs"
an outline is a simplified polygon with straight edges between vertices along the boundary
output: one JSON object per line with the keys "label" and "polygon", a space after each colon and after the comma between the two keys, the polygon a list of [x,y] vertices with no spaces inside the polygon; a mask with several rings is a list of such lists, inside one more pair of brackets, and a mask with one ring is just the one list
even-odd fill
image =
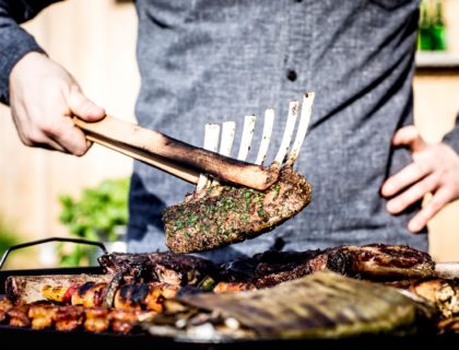
{"label": "man's hand gripping the wooden tongs", "polygon": [[10,74],[10,105],[26,145],[83,155],[91,142],[73,125],[72,115],[96,121],[105,110],[87,100],[62,67],[38,52],[25,55]]}

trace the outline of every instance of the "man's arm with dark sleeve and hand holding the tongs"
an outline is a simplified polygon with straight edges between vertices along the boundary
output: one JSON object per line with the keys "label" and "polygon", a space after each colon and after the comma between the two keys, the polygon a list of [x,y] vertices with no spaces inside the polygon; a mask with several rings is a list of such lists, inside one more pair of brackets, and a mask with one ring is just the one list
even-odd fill
{"label": "man's arm with dark sleeve and hand holding the tongs", "polygon": [[19,26],[52,2],[0,0],[0,100],[10,104],[24,144],[82,155],[91,143],[71,116],[95,121],[105,110]]}

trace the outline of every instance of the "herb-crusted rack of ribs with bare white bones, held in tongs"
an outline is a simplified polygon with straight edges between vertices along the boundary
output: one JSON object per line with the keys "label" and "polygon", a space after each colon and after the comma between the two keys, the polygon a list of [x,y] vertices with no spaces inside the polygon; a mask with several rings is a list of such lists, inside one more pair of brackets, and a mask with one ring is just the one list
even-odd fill
{"label": "herb-crusted rack of ribs with bare white bones, held in tongs", "polygon": [[[298,115],[298,102],[291,102],[284,136],[271,167],[280,177],[264,191],[227,184],[198,186],[180,203],[163,213],[166,245],[175,253],[192,253],[254,238],[280,225],[302,211],[311,199],[311,186],[293,170],[307,132],[314,93],[304,95],[295,140],[292,138]],[[267,109],[257,163],[262,163],[271,137],[273,110]],[[238,160],[246,160],[250,148],[255,117],[246,117]],[[225,139],[226,135],[222,135]],[[266,138],[266,139],[264,139]],[[204,140],[205,141],[205,140]],[[214,148],[215,144],[214,144]],[[289,152],[289,150],[291,151]]]}

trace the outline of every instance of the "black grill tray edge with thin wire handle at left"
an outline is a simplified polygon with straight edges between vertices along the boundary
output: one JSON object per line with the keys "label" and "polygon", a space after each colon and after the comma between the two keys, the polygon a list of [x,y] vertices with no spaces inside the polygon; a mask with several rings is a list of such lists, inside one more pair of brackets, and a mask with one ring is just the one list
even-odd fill
{"label": "black grill tray edge with thin wire handle at left", "polygon": [[[37,245],[46,242],[73,242],[92,244],[101,247],[106,253],[105,246],[98,242],[75,238],[47,238],[10,247],[0,260],[0,268],[8,255],[15,249]],[[10,276],[42,276],[42,275],[80,275],[104,273],[98,266],[50,269],[22,269],[0,270],[0,298],[4,296],[4,282]],[[459,345],[459,334],[445,336],[411,335],[398,336],[360,336],[341,339],[251,339],[251,340],[217,340],[211,342],[192,341],[189,339],[176,339],[172,337],[151,336],[148,332],[116,334],[116,332],[89,332],[85,330],[57,331],[54,329],[31,329],[0,325],[0,340],[14,347],[45,345],[47,349],[62,349],[63,347],[102,347],[103,349],[319,349],[331,347],[349,347],[353,349],[388,349],[393,347],[412,348],[413,346],[456,346]]]}

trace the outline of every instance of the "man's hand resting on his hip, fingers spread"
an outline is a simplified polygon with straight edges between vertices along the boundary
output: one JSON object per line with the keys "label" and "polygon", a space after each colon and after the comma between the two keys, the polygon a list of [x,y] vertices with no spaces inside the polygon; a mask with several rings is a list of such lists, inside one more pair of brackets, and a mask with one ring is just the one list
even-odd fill
{"label": "man's hand resting on his hip, fingers spread", "polygon": [[396,132],[392,145],[411,148],[413,163],[382,185],[381,194],[393,197],[387,210],[397,214],[432,192],[428,203],[408,224],[412,232],[422,230],[448,202],[459,198],[459,155],[447,144],[426,143],[414,126]]}

